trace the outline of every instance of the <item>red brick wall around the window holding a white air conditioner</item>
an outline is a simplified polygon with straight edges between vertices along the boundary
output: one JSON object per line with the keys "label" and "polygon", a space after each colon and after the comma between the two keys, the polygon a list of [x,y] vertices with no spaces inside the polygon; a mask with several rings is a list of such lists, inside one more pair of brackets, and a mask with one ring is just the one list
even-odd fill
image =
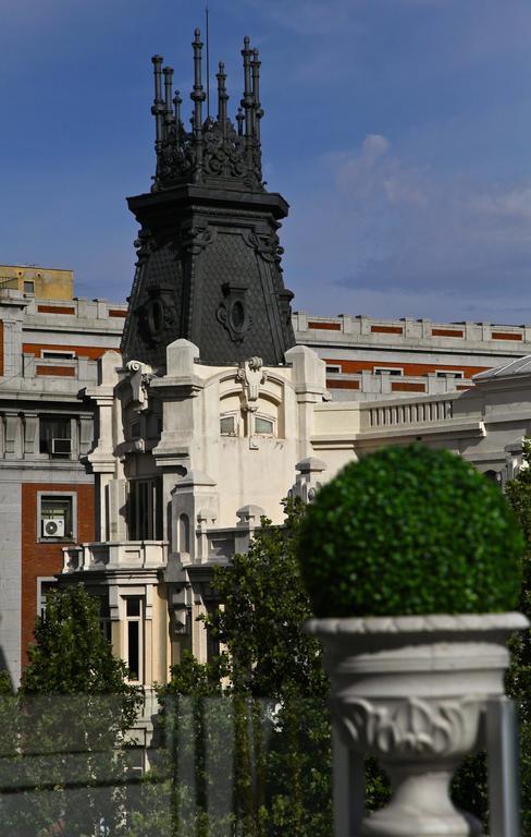
{"label": "red brick wall around the window holding a white air conditioner", "polygon": [[62,543],[38,543],[37,493],[67,492],[77,494],[77,543],[95,538],[92,485],[67,483],[23,483],[22,485],[22,666],[27,663],[27,646],[33,641],[37,616],[37,578],[53,575],[63,566]]}

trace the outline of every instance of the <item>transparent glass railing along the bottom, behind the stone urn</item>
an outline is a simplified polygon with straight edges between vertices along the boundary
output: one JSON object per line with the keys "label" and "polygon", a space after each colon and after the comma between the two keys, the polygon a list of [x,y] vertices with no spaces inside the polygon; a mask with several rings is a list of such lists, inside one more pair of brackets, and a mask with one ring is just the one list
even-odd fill
{"label": "transparent glass railing along the bottom, behind the stone urn", "polygon": [[[112,698],[0,699],[2,836],[332,837],[324,701],[165,700],[126,736],[121,713]],[[520,738],[531,837],[529,724]],[[366,774],[373,810],[388,788],[373,763]],[[459,802],[486,816],[481,762],[458,781]]]}

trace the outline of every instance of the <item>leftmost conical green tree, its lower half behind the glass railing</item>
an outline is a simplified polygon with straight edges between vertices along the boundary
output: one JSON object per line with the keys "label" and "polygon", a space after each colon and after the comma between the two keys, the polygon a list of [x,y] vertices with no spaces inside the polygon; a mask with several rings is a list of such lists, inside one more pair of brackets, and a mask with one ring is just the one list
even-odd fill
{"label": "leftmost conical green tree, its lower half behind the glass railing", "polygon": [[83,585],[47,596],[17,695],[15,833],[125,827],[125,736],[143,701],[126,677]]}

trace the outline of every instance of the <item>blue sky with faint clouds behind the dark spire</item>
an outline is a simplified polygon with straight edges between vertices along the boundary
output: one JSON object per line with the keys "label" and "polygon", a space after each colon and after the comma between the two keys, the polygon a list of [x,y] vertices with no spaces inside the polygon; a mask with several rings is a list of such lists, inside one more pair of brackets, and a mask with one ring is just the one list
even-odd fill
{"label": "blue sky with faint clouds behind the dark spire", "polygon": [[[231,114],[244,36],[260,49],[295,310],[531,323],[529,0],[208,2]],[[188,116],[203,20],[198,0],[0,0],[0,263],[127,296],[125,196],[155,171],[150,58]]]}

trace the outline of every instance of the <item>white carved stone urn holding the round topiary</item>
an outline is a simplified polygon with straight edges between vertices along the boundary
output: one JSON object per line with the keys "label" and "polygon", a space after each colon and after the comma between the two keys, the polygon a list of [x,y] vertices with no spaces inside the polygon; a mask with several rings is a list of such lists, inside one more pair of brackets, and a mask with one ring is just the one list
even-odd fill
{"label": "white carved stone urn holding the round topiary", "polygon": [[528,624],[518,612],[306,623],[324,646],[339,732],[391,779],[391,802],[363,820],[363,837],[481,834],[452,803],[449,783],[479,744],[487,699],[504,693],[506,641]]}

